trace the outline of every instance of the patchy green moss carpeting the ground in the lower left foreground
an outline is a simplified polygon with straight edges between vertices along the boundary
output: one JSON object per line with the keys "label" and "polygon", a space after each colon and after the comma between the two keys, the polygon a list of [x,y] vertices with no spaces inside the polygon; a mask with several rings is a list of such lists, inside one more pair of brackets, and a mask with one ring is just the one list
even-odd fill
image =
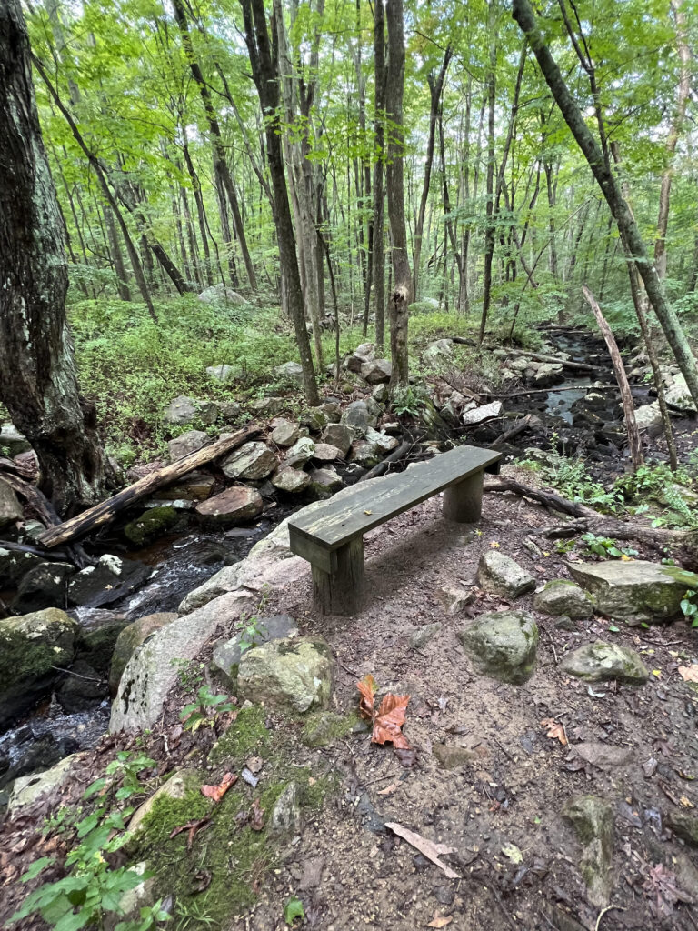
{"label": "patchy green moss carpeting the ground in the lower left foreground", "polygon": [[[338,789],[338,776],[311,766],[291,766],[302,721],[264,724],[264,709],[242,708],[237,719],[208,755],[212,769],[204,781],[218,783],[224,773],[238,775],[219,803],[190,789],[181,799],[162,795],[143,819],[134,861],[145,860],[154,872],[156,897],[172,896],[174,931],[227,928],[254,902],[265,876],[276,868],[289,838],[270,836],[268,825],[279,795],[294,782],[302,810],[319,809]],[[256,789],[239,777],[250,757],[263,761]],[[248,823],[253,803],[263,810],[264,827]],[[188,831],[172,831],[201,818],[210,823],[195,834],[187,849]]]}

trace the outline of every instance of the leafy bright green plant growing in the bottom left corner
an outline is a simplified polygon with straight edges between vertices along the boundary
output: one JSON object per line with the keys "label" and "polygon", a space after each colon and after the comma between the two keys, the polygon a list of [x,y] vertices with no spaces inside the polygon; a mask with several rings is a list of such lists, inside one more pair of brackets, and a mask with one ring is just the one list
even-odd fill
{"label": "leafy bright green plant growing in the bottom left corner", "polygon": [[[70,830],[74,835],[75,843],[64,864],[67,875],[44,883],[30,893],[7,924],[38,912],[56,931],[76,931],[86,925],[102,927],[107,914],[123,914],[122,897],[149,874],[111,865],[111,855],[129,840],[126,819],[133,810],[119,807],[119,803],[143,790],[138,775],[154,765],[154,760],[142,754],[118,753],[107,766],[105,775],[85,792],[86,801],[97,796],[91,811],[74,823],[67,817],[52,822],[50,830]],[[53,862],[52,857],[35,860],[21,882],[34,880]],[[118,931],[150,931],[168,917],[162,910],[162,902],[156,902],[152,907],[141,909],[137,920],[120,922],[116,927]]]}

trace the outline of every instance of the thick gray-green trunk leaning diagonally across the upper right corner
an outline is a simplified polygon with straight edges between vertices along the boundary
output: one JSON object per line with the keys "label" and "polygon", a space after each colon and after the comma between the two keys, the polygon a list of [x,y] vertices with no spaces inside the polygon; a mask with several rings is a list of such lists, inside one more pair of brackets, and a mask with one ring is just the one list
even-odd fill
{"label": "thick gray-green trunk leaning diagonally across the upper right corner", "polygon": [[522,32],[529,39],[530,47],[533,49],[560,113],[582,150],[589,168],[592,170],[598,186],[606,198],[611,214],[618,224],[619,233],[624,238],[638,268],[638,273],[645,284],[645,290],[652,309],[662,325],[666,340],[671,346],[678,367],[686,379],[686,385],[688,385],[691,392],[693,403],[698,407],[698,368],[696,368],[695,358],[676,311],[666,301],[661,280],[657,275],[656,268],[650,261],[638,224],[628,208],[605,155],[587,127],[579,106],[570,94],[557,62],[553,59],[550,49],[545,44],[529,0],[513,0],[513,16]]}

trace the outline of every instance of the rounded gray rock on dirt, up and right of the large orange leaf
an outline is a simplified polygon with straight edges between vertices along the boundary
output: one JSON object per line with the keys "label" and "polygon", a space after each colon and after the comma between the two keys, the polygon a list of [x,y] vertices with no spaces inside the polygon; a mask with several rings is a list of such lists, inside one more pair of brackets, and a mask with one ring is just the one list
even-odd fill
{"label": "rounded gray rock on dirt, up and right of the large orange leaf", "polygon": [[533,675],[538,625],[526,611],[480,614],[458,639],[475,668],[493,679],[520,685]]}

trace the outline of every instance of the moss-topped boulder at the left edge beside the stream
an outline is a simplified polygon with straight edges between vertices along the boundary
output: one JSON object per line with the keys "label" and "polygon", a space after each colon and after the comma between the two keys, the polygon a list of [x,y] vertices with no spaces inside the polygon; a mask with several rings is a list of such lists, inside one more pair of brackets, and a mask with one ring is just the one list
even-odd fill
{"label": "moss-topped boulder at the left edge beside the stream", "polygon": [[79,627],[58,608],[0,621],[0,732],[70,666]]}

